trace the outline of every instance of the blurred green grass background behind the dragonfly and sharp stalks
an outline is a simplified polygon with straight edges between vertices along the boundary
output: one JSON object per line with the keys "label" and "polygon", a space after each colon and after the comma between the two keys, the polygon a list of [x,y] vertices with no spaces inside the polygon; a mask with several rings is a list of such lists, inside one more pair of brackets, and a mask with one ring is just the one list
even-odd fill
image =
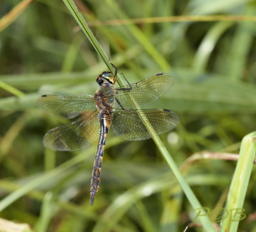
{"label": "blurred green grass background behind the dragonfly and sharp stalks", "polygon": [[[20,2],[1,0],[0,17]],[[239,153],[241,139],[256,130],[255,18],[204,22],[187,17],[255,16],[256,1],[75,2],[87,22],[115,20],[91,29],[129,82],[159,72],[175,78],[171,91],[148,107],[179,114],[180,125],[160,136],[178,166],[204,150]],[[187,20],[131,20],[172,15]],[[115,25],[118,19],[131,21]],[[43,147],[45,132],[63,121],[40,111],[36,99],[49,93],[93,95],[95,77],[108,71],[65,4],[33,1],[0,30],[0,196],[20,187],[25,191],[0,217],[35,231],[184,231],[195,212],[152,139],[126,142],[109,133],[93,207],[90,178],[97,143],[76,152]],[[3,83],[24,94],[8,91]],[[235,167],[236,161],[209,159],[186,169],[202,206],[223,206]],[[256,231],[255,180],[254,168],[241,231]],[[202,228],[191,225],[189,231]]]}

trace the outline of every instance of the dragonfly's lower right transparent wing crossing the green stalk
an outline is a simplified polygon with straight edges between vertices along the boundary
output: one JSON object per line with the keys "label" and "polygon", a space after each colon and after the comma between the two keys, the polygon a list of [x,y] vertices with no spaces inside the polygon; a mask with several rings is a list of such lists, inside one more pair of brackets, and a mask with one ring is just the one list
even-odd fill
{"label": "dragonfly's lower right transparent wing crossing the green stalk", "polygon": [[147,118],[156,134],[163,134],[175,128],[179,122],[179,116],[168,109],[113,109],[111,127],[116,136],[125,140],[149,139],[147,127],[142,123],[142,118]]}

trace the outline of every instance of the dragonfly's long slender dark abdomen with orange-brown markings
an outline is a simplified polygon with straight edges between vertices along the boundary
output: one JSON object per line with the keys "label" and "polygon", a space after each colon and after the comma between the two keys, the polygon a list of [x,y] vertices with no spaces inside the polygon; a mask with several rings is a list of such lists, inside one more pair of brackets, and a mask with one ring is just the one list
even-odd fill
{"label": "dragonfly's long slender dark abdomen with orange-brown markings", "polygon": [[100,173],[101,173],[104,150],[106,146],[106,138],[108,136],[108,130],[111,125],[110,118],[111,116],[109,112],[100,112],[99,114],[100,136],[99,136],[99,143],[97,146],[97,151],[96,151],[95,160],[93,164],[92,182],[91,182],[91,190],[90,190],[91,206],[93,205],[94,197],[99,190]]}

